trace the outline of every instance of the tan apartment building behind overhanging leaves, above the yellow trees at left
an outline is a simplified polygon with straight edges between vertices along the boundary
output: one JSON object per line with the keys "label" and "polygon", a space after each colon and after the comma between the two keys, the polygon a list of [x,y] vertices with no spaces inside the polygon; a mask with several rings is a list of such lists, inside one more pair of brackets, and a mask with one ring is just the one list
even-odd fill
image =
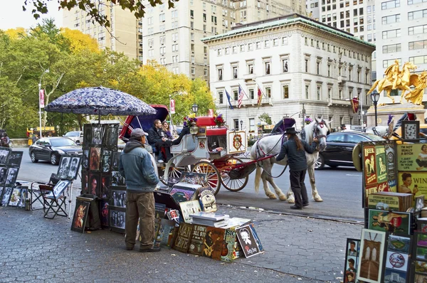
{"label": "tan apartment building behind overhanging leaves, above the yellow trees at left", "polygon": [[[142,46],[138,48],[137,36],[142,41],[142,21],[137,21],[130,11],[124,11],[118,5],[107,6],[102,1],[98,9],[105,14],[111,22],[110,33],[99,23],[92,23],[90,16],[78,8],[63,11],[63,26],[65,28],[76,29],[97,39],[100,48],[110,48],[117,52],[125,53],[130,58],[137,58],[137,54],[142,56]],[[142,57],[140,58],[142,60]]]}

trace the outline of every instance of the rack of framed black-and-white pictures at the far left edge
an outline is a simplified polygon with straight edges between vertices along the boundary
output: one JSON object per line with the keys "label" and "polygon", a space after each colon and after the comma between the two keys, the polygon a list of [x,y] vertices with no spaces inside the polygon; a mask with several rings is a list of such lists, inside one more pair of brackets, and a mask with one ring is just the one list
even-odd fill
{"label": "rack of framed black-and-white pictures at the far left edge", "polygon": [[16,186],[23,151],[0,147],[0,205],[25,208],[28,188]]}

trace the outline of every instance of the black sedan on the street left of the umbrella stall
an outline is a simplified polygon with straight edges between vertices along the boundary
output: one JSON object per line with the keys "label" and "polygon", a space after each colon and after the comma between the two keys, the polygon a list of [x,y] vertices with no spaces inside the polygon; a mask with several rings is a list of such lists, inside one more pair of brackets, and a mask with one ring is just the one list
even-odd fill
{"label": "black sedan on the street left of the umbrella stall", "polygon": [[81,155],[83,151],[81,146],[66,137],[45,137],[31,145],[28,153],[34,163],[39,160],[47,160],[53,165],[58,165],[61,155]]}

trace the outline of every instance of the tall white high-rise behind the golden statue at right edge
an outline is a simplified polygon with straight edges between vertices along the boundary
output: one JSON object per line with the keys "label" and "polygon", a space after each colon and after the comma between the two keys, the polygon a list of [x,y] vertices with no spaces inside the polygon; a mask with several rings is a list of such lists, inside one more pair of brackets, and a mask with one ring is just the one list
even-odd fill
{"label": "tall white high-rise behind the golden statue at right edge", "polygon": [[[384,70],[399,60],[400,68],[405,62],[418,66],[414,73],[427,70],[427,1],[392,0],[380,1],[377,5],[378,28],[376,29],[376,70],[382,78]],[[396,102],[400,93],[393,91]],[[391,103],[381,95],[380,102]],[[426,105],[427,91],[423,103]]]}

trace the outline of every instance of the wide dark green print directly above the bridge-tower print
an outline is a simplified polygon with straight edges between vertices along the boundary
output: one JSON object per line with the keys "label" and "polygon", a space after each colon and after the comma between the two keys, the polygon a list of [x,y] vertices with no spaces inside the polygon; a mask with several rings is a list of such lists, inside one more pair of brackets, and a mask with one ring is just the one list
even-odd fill
{"label": "wide dark green print directly above the bridge-tower print", "polygon": [[371,230],[410,235],[411,217],[409,213],[369,209],[368,227]]}

